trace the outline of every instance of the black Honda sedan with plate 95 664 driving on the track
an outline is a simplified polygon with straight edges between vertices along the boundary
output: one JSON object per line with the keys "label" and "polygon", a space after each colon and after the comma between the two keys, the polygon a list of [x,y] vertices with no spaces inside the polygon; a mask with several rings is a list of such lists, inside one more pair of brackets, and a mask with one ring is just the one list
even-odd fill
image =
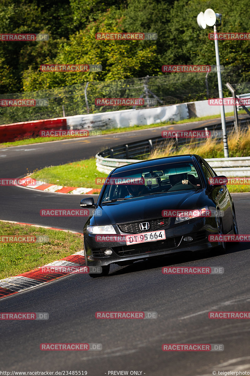
{"label": "black Honda sedan with plate 95 664 driving on the track", "polygon": [[[199,155],[179,155],[115,168],[107,177],[84,226],[88,267],[128,265],[181,251],[209,250],[225,243],[211,234],[238,234],[234,203],[226,177]],[[213,179],[214,178],[214,179]],[[219,183],[218,183],[219,182]],[[95,271],[95,268],[91,268]]]}

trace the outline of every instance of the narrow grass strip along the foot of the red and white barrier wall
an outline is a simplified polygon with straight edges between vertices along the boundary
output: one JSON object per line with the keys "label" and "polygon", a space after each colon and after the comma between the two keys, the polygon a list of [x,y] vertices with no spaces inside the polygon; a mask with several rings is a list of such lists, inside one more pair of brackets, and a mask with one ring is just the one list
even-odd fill
{"label": "narrow grass strip along the foot of the red and white barrier wall", "polygon": [[[241,110],[238,112],[238,114],[245,114],[245,111]],[[234,115],[234,112],[228,112],[225,115],[232,116]],[[216,119],[216,118],[219,118],[219,115],[210,115],[210,116],[204,116],[200,118],[196,117],[196,118],[183,119],[180,121],[172,121],[172,122],[165,121],[163,123],[150,124],[150,125],[134,125],[132,127],[124,127],[124,128],[112,128],[112,129],[104,129],[104,130],[101,129],[101,131],[102,131],[102,135],[108,135],[110,133],[123,133],[123,132],[130,132],[132,130],[142,130],[142,129],[163,127],[166,125],[174,125],[174,124],[182,124],[182,123],[192,123],[193,121],[209,120],[209,119]],[[8,146],[38,144],[38,143],[50,142],[50,141],[60,141],[60,140],[65,140],[69,138],[75,138],[75,137],[68,136],[68,137],[36,137],[36,138],[27,138],[27,139],[25,138],[25,139],[18,140],[18,141],[0,143],[0,148],[8,147]]]}

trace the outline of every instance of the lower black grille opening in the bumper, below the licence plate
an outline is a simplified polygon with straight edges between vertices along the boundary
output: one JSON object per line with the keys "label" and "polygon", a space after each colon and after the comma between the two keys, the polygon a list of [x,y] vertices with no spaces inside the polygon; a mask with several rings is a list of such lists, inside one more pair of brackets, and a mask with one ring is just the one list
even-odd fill
{"label": "lower black grille opening in the bumper, below the licence plate", "polygon": [[119,256],[141,255],[144,253],[154,253],[175,248],[181,241],[181,237],[168,238],[163,241],[149,241],[147,243],[134,244],[131,246],[113,247],[112,249]]}

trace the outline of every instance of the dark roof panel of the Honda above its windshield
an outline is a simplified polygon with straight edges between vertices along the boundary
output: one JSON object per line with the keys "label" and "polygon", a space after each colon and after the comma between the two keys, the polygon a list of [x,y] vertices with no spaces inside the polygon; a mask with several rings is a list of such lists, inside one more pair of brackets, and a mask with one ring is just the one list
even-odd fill
{"label": "dark roof panel of the Honda above its windshield", "polygon": [[130,163],[129,165],[121,166],[115,168],[113,170],[112,174],[121,173],[133,170],[135,168],[144,168],[144,167],[155,167],[157,165],[162,164],[170,164],[170,163],[179,163],[179,162],[193,162],[194,158],[197,158],[198,155],[195,154],[185,154],[185,155],[175,155],[175,156],[169,156],[169,157],[163,157],[163,158],[155,158],[155,159],[149,159],[147,161],[141,161],[141,162],[135,162]]}

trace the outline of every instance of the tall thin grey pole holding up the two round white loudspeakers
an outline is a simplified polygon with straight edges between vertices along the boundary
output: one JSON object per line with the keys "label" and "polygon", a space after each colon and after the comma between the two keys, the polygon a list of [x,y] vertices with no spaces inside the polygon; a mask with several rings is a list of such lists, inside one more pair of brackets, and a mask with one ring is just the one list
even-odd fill
{"label": "tall thin grey pole holding up the two round white loudspeakers", "polygon": [[220,116],[222,120],[222,137],[223,137],[223,146],[224,146],[224,157],[228,158],[228,136],[226,134],[226,118],[224,111],[223,103],[223,91],[222,91],[222,77],[220,74],[220,56],[219,56],[219,45],[217,39],[217,29],[214,25],[214,45],[215,45],[215,55],[216,55],[216,65],[217,65],[217,77],[218,77],[218,89],[219,89],[219,98],[222,98],[222,106],[220,107]]}

